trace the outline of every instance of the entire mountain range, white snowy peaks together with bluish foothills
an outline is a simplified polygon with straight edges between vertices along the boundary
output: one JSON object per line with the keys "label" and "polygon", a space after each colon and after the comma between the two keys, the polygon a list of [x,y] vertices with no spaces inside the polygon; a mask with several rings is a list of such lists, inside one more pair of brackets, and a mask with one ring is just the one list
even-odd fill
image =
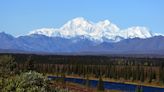
{"label": "entire mountain range, white snowy peaks together with bluish foothills", "polygon": [[19,37],[0,33],[0,52],[164,54],[164,36],[146,27],[121,29],[108,20],[82,17],[61,28],[42,28]]}

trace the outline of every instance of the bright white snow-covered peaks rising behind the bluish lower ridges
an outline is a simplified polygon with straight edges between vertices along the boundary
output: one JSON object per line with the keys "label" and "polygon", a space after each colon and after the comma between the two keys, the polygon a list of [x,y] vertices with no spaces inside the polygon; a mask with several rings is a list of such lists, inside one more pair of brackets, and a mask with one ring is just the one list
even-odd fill
{"label": "bright white snow-covered peaks rising behind the bluish lower ridges", "polygon": [[61,28],[42,28],[31,31],[31,34],[42,34],[49,37],[73,38],[83,36],[92,41],[118,42],[129,38],[150,38],[154,36],[146,27],[120,29],[109,20],[93,23],[82,17],[68,21]]}

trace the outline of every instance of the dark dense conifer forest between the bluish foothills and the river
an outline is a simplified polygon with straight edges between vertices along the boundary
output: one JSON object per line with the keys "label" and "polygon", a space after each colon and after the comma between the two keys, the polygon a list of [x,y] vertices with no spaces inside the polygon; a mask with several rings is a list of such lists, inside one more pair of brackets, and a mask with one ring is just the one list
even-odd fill
{"label": "dark dense conifer forest between the bluish foothills and the river", "polygon": [[[3,54],[1,54],[3,55]],[[164,84],[164,58],[10,54],[19,70]]]}

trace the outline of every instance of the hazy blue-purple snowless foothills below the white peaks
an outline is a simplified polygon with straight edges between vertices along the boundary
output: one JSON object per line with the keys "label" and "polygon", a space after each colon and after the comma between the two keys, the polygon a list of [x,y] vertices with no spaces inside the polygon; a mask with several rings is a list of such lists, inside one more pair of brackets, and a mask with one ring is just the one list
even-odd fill
{"label": "hazy blue-purple snowless foothills below the white peaks", "polygon": [[164,36],[97,43],[84,37],[62,38],[45,35],[13,37],[0,33],[0,53],[51,53],[51,54],[162,54]]}

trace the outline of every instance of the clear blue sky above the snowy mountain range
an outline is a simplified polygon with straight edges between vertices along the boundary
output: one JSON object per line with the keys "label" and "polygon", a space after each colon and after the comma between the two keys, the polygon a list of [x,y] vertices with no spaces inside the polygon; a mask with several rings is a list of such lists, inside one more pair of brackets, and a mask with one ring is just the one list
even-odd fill
{"label": "clear blue sky above the snowy mountain range", "polygon": [[164,0],[0,0],[0,31],[15,36],[43,27],[59,28],[76,17],[164,33]]}

